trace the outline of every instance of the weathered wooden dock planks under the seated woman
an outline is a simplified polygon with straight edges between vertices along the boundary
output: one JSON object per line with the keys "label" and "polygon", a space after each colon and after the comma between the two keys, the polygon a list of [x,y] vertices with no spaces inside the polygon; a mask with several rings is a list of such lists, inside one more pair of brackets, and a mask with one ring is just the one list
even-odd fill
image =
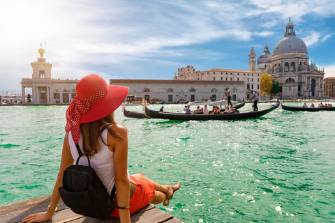
{"label": "weathered wooden dock planks under the seated woman", "polygon": [[[16,223],[21,222],[24,217],[32,213],[38,213],[47,210],[47,206],[50,204],[51,194],[43,197],[37,197],[34,199],[20,201],[17,203],[11,203],[6,206],[0,206],[0,222]],[[57,212],[54,213],[52,220],[47,221],[48,223],[55,222],[69,222],[69,223],[103,223],[103,222],[120,222],[119,218],[110,217],[107,220],[98,220],[91,217],[84,217],[77,215],[68,208],[63,201],[59,201],[57,206]],[[182,223],[177,220],[169,213],[164,212],[158,208],[155,208],[152,204],[149,204],[145,208],[138,210],[136,213],[131,215],[131,222],[146,222],[146,223]]]}

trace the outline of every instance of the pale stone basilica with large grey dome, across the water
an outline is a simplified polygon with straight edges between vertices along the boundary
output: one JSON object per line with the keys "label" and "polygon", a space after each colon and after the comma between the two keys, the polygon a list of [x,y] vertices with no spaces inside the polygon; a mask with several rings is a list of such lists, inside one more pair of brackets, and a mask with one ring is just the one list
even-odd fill
{"label": "pale stone basilica with large grey dome, across the water", "polygon": [[309,63],[306,44],[295,36],[292,22],[286,24],[284,38],[269,51],[267,43],[264,52],[258,56],[256,69],[255,49],[249,54],[249,70],[269,74],[278,82],[282,99],[306,97],[321,98],[324,96],[323,78],[325,70]]}

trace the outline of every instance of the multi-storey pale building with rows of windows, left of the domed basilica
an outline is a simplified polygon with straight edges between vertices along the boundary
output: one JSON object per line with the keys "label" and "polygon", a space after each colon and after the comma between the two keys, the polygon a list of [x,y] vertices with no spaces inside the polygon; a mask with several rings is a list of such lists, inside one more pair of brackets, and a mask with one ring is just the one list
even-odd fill
{"label": "multi-storey pale building with rows of windows, left of the domed basilica", "polygon": [[[239,93],[242,98],[249,98],[250,90],[260,95],[260,72],[257,70],[232,70],[217,69],[195,71],[193,66],[178,68],[178,74],[174,74],[174,80],[193,80],[193,81],[216,81],[225,82],[225,87],[230,87],[232,82],[244,82],[243,93]],[[230,88],[231,89],[231,88]]]}

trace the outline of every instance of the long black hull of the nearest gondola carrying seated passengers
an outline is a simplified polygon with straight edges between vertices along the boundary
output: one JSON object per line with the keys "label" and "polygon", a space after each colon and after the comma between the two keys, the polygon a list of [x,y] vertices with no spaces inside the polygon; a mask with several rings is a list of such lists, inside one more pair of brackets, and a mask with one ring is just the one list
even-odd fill
{"label": "long black hull of the nearest gondola carrying seated passengers", "polygon": [[182,114],[182,113],[172,113],[172,112],[159,112],[153,111],[145,107],[145,115],[150,118],[163,118],[170,120],[241,120],[246,118],[259,118],[265,114],[273,111],[279,107],[279,100],[276,104],[269,105],[266,109],[258,110],[258,112],[241,112],[241,113],[228,113],[228,114]]}

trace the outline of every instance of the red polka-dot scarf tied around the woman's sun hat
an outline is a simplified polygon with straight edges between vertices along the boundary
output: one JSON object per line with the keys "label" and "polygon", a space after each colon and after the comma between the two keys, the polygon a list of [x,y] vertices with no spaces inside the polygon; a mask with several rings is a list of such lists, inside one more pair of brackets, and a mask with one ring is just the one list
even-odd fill
{"label": "red polka-dot scarf tied around the woman's sun hat", "polygon": [[75,141],[75,144],[77,144],[79,141],[80,118],[83,114],[86,114],[89,111],[89,107],[91,107],[94,102],[107,95],[108,89],[108,86],[103,86],[100,91],[94,95],[89,96],[89,98],[84,98],[84,100],[80,100],[77,95],[75,95],[75,98],[73,98],[73,101],[66,110],[65,131],[70,132],[71,130],[72,138],[73,141]]}

